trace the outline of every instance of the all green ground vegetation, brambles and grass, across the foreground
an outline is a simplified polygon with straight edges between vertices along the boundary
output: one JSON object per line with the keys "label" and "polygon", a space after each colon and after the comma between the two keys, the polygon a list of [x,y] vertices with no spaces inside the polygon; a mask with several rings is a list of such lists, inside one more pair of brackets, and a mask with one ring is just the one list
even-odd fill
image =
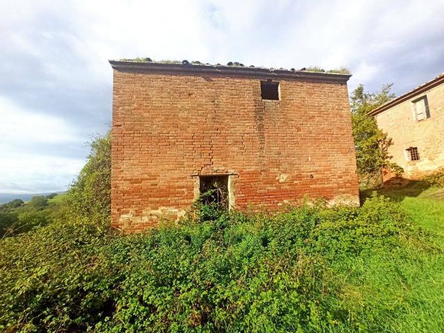
{"label": "all green ground vegetation, brambles and grass, across the foreground", "polygon": [[270,215],[197,205],[128,237],[68,218],[56,196],[37,211],[53,222],[0,242],[0,330],[443,332],[444,189],[377,192],[391,200]]}

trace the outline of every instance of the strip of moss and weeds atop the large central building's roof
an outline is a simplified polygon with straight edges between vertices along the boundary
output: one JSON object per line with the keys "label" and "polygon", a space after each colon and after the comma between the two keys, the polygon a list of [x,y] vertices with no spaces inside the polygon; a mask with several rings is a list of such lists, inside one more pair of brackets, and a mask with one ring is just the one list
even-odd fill
{"label": "strip of moss and weeds atop the large central building's roof", "polygon": [[[204,62],[200,62],[198,60],[192,60],[192,61],[188,61],[188,60],[159,60],[159,61],[155,61],[152,60],[151,58],[133,58],[133,59],[128,59],[128,58],[121,58],[119,59],[119,61],[125,61],[125,62],[153,62],[156,64],[182,64],[182,65],[193,65],[193,66],[213,66],[213,67],[219,67],[219,66],[226,66],[226,67],[250,67],[250,68],[262,68],[262,69],[268,69],[270,71],[273,71],[275,69],[273,68],[267,68],[267,67],[263,67],[263,66],[254,66],[254,65],[250,65],[250,66],[245,66],[244,64],[242,64],[241,62],[228,62],[226,65],[221,65],[221,64],[216,64],[216,65],[212,65],[209,63],[204,63]],[[348,75],[350,74],[350,70],[348,70],[345,67],[341,67],[339,69],[329,69],[329,70],[325,70],[321,67],[317,67],[317,66],[311,66],[311,67],[303,67],[301,69],[285,69],[285,68],[279,68],[279,70],[282,71],[308,71],[308,72],[313,72],[313,73],[328,73],[328,74],[342,74],[342,75]]]}

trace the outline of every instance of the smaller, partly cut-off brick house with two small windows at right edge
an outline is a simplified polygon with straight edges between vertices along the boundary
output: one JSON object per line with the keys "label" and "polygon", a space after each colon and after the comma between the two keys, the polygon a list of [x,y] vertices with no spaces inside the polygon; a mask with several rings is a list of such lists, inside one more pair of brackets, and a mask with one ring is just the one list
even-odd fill
{"label": "smaller, partly cut-off brick house with two small windows at right edge", "polygon": [[[444,74],[370,112],[388,133],[392,162],[404,178],[419,179],[444,167]],[[394,175],[384,171],[384,180]]]}

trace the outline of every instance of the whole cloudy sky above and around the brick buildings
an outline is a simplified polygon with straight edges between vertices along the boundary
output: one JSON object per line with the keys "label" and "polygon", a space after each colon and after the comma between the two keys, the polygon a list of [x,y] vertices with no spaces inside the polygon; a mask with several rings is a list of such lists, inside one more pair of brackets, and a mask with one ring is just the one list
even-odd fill
{"label": "whole cloudy sky above and around the brick buildings", "polygon": [[0,193],[66,189],[110,126],[109,59],[345,66],[395,94],[444,71],[442,0],[0,4]]}

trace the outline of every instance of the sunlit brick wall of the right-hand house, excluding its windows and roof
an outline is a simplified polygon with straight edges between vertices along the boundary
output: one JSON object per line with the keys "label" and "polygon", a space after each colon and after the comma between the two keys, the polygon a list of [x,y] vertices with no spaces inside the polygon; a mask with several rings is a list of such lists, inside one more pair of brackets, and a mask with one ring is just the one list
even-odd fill
{"label": "sunlit brick wall of the right-hand house, excluding its windows and roof", "polygon": [[[416,121],[412,101],[427,96],[430,117]],[[420,179],[439,167],[444,167],[444,84],[417,94],[376,116],[379,128],[388,133],[392,145],[388,152],[392,162],[404,168],[404,178]],[[419,160],[408,161],[404,152],[417,147]],[[393,177],[384,172],[384,180]]]}

